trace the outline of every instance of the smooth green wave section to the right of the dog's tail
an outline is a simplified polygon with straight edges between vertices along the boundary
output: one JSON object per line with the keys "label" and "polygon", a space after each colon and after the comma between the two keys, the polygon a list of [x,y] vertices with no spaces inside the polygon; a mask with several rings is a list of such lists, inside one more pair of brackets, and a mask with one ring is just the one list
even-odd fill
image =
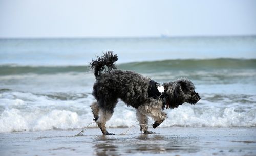
{"label": "smooth green wave section to the right of the dog's tail", "polygon": [[185,59],[121,64],[119,68],[144,72],[176,70],[255,69],[256,59]]}

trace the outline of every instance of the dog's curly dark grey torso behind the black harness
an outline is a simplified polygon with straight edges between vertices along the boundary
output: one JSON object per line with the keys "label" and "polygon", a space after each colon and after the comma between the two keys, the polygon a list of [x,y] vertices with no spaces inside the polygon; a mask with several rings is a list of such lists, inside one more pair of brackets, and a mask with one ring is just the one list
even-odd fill
{"label": "dog's curly dark grey torso behind the black harness", "polygon": [[[93,96],[105,109],[113,109],[118,98],[139,107],[148,98],[149,78],[133,71],[111,70],[100,74],[93,86]],[[104,99],[104,101],[100,101]]]}

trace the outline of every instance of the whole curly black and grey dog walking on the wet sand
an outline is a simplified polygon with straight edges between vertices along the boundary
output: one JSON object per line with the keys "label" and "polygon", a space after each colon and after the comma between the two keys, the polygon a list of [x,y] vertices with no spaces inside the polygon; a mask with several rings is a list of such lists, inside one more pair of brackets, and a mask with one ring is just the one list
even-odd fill
{"label": "whole curly black and grey dog walking on the wet sand", "polygon": [[155,121],[155,129],[167,117],[164,109],[178,108],[184,102],[195,104],[200,100],[194,84],[186,78],[162,86],[134,71],[117,70],[118,57],[112,51],[96,57],[90,68],[96,77],[92,95],[97,101],[90,107],[103,135],[114,135],[106,130],[105,124],[114,113],[118,99],[136,109],[136,118],[144,134],[154,133],[148,131],[148,116]]}

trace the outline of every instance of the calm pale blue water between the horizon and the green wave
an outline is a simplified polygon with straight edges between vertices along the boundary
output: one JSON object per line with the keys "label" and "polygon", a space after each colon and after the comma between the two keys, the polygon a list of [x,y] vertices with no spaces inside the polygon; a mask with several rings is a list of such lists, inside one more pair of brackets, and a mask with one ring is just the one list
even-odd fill
{"label": "calm pale blue water between the horizon and the green wave", "polygon": [[256,37],[0,39],[0,64],[87,65],[112,50],[118,63],[169,59],[256,58]]}

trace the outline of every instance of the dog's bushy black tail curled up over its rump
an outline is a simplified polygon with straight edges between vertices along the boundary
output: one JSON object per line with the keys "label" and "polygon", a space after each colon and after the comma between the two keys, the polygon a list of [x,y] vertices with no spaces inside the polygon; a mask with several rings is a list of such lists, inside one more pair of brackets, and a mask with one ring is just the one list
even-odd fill
{"label": "dog's bushy black tail curled up over its rump", "polygon": [[115,62],[118,60],[118,58],[117,55],[113,54],[112,51],[106,51],[106,53],[103,53],[103,56],[96,57],[97,59],[92,60],[90,63],[90,68],[94,70],[95,77],[98,77],[99,74],[106,72],[106,67],[108,68],[108,72],[112,69],[116,69]]}

